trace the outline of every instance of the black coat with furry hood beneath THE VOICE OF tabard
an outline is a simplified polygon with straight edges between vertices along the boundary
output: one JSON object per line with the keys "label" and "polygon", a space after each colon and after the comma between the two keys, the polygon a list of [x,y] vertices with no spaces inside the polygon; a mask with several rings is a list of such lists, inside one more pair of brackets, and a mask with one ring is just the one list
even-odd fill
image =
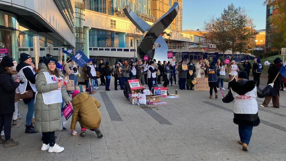
{"label": "black coat with furry hood beneath THE VOICE OF tabard", "polygon": [[[256,87],[256,84],[253,80],[248,81],[247,79],[241,79],[238,82],[235,80],[229,82],[229,87],[231,90],[235,91],[237,94],[244,95],[249,91],[252,91],[254,88],[257,88],[257,97],[263,98],[268,96],[272,87],[267,85],[263,90]],[[229,103],[234,100],[231,90],[227,93],[227,95],[222,99],[224,103]],[[260,119],[258,117],[258,112],[256,114],[241,114],[234,113],[233,122],[235,124],[241,125],[250,125],[250,126],[258,126],[260,123]]]}

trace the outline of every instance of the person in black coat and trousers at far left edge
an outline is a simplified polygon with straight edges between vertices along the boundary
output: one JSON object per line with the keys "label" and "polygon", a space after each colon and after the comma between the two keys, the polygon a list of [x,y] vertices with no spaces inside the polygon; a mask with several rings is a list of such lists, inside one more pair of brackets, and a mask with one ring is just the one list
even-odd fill
{"label": "person in black coat and trousers at far left edge", "polygon": [[4,147],[18,145],[18,141],[11,138],[11,121],[15,111],[15,89],[19,86],[20,79],[13,81],[11,67],[14,64],[9,56],[4,56],[0,63],[0,130],[4,126],[5,140],[0,137],[0,144]]}

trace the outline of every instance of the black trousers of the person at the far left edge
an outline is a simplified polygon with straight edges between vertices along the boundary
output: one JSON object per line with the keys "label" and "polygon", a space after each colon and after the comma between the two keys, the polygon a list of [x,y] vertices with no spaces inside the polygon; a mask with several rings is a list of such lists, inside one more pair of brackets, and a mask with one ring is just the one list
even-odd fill
{"label": "black trousers of the person at the far left edge", "polygon": [[7,114],[0,114],[0,131],[4,126],[4,135],[5,140],[9,140],[11,138],[11,121],[13,118],[13,112]]}

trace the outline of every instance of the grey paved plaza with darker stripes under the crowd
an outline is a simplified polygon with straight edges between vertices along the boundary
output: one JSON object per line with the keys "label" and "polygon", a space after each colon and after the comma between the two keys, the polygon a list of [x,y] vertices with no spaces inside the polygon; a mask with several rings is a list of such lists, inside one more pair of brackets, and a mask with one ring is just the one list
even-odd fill
{"label": "grey paved plaza with darker stripes under the crowd", "polygon": [[[11,132],[20,145],[0,145],[0,160],[286,160],[286,91],[280,91],[279,109],[272,104],[259,108],[261,123],[253,128],[249,151],[244,152],[237,143],[232,103],[222,103],[220,93],[218,99],[209,99],[208,91],[178,91],[180,98],[161,98],[168,104],[132,106],[113,87],[113,82],[111,91],[100,86],[93,94],[101,103],[103,138],[93,131],[85,137],[71,135],[69,119],[68,131],[55,133],[56,143],[65,148],[61,153],[40,150],[41,133],[25,134],[27,106],[21,101],[22,124]],[[258,99],[258,105],[262,102]],[[79,123],[76,131],[81,131]]]}

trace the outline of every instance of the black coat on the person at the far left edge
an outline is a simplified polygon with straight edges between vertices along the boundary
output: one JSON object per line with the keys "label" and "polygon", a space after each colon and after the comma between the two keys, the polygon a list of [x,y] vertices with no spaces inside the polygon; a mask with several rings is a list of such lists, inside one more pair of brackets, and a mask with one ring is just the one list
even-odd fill
{"label": "black coat on the person at the far left edge", "polygon": [[14,82],[11,75],[5,73],[0,67],[0,114],[12,113],[15,111],[15,89],[19,86]]}

